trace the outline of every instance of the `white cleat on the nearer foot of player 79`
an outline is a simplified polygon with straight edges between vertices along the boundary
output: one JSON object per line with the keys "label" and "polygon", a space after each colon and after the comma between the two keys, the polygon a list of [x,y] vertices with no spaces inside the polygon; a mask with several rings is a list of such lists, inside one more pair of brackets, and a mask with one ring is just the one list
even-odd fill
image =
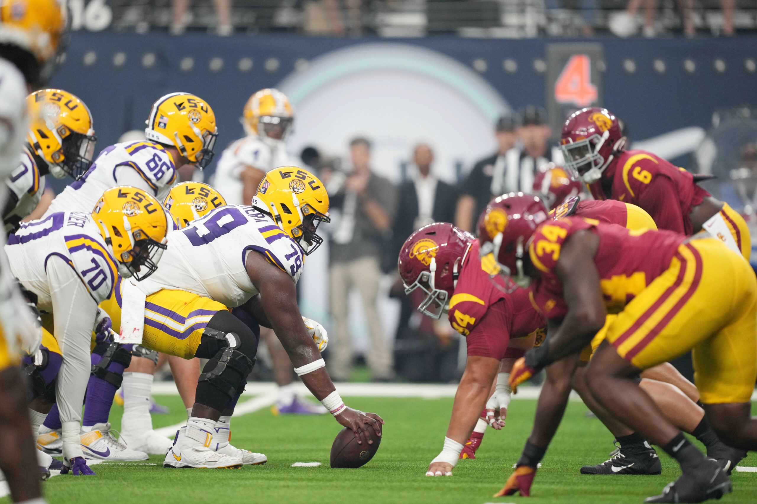
{"label": "white cleat on the nearer foot of player 79", "polygon": [[173,447],[166,454],[164,467],[180,468],[240,468],[242,459],[210,448],[213,434],[196,427],[182,427],[176,434]]}

